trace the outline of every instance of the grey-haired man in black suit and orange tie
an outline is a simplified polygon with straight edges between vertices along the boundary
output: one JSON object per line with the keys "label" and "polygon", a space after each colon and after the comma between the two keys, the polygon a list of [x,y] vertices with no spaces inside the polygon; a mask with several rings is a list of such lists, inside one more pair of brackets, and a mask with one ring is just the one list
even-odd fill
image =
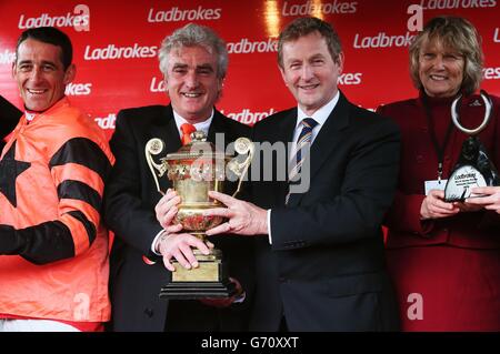
{"label": "grey-haired man in black suit and orange tie", "polygon": [[[117,159],[104,196],[106,221],[117,236],[111,254],[112,328],[243,331],[248,324],[248,299],[159,299],[160,289],[170,280],[171,260],[186,267],[197,266],[191,247],[208,252],[209,246],[181,232],[180,225],[171,224],[177,211],[167,215],[169,219],[162,224],[157,220],[157,213],[164,215],[162,206],[171,200],[177,202],[179,196],[170,190],[167,178],[160,179],[160,189],[168,190],[166,195],[161,198],[157,191],[144,158],[147,142],[152,138],[163,140],[164,156],[181,148],[188,131],[204,131],[212,142],[216,133],[223,133],[226,143],[250,133],[247,125],[214,109],[226,77],[228,52],[212,30],[188,24],[174,31],[164,39],[159,59],[170,104],[120,111],[110,142]],[[241,291],[251,287],[247,242],[233,236],[213,241],[227,256],[229,275]]]}

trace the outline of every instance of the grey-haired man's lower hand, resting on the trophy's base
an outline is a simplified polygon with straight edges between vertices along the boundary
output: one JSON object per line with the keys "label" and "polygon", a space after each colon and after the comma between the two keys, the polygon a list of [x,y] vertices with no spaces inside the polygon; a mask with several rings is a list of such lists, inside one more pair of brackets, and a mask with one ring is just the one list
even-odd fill
{"label": "grey-haired man's lower hand, resting on the trophy's base", "polygon": [[[180,229],[182,229],[181,225],[174,225],[171,227],[176,226],[180,226]],[[211,242],[203,242],[189,233],[166,232],[158,240],[156,247],[163,256],[166,269],[170,272],[174,272],[176,267],[171,263],[172,259],[176,259],[177,262],[179,262],[179,264],[187,270],[198,267],[199,264],[192,252],[192,247],[198,249],[202,254],[208,255],[210,253],[210,249],[213,249],[213,244]]]}

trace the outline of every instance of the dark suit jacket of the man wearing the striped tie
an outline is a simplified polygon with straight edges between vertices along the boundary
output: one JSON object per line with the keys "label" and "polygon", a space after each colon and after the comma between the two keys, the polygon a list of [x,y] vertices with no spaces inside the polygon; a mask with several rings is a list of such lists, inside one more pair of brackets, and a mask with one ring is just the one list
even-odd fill
{"label": "dark suit jacket of the man wearing the striped tie", "polygon": [[[296,122],[297,109],[269,117],[253,141],[290,142]],[[290,331],[398,328],[381,231],[398,162],[398,128],[340,93],[311,146],[309,190],[286,206],[287,181],[251,183],[272,236],[257,242],[251,330],[277,331],[283,315]]]}

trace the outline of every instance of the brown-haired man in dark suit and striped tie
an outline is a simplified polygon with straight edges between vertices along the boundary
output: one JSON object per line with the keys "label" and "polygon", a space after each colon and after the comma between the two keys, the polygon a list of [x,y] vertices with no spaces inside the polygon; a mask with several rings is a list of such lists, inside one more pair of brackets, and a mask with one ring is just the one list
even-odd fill
{"label": "brown-haired man in dark suit and striped tie", "polygon": [[[297,19],[278,45],[298,108],[258,123],[253,141],[268,142],[274,154],[280,143],[294,142],[291,153],[261,166],[259,178],[251,174],[254,204],[210,192],[228,209],[206,214],[229,220],[208,233],[257,236],[251,330],[397,330],[381,222],[396,189],[398,129],[338,90],[343,53],[330,24]],[[267,153],[262,145],[260,162]],[[290,160],[290,183],[279,181],[280,160]],[[263,174],[271,168],[269,181]]]}

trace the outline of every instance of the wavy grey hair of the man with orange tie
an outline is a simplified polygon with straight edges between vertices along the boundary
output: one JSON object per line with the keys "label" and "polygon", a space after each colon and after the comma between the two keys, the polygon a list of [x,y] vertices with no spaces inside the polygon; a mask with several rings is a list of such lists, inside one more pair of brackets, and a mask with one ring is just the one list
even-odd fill
{"label": "wavy grey hair of the man with orange tie", "polygon": [[194,23],[188,23],[176,30],[161,42],[158,59],[163,75],[168,72],[170,52],[183,47],[202,47],[209,53],[216,53],[218,59],[217,77],[219,79],[226,78],[229,62],[226,42],[212,29]]}

